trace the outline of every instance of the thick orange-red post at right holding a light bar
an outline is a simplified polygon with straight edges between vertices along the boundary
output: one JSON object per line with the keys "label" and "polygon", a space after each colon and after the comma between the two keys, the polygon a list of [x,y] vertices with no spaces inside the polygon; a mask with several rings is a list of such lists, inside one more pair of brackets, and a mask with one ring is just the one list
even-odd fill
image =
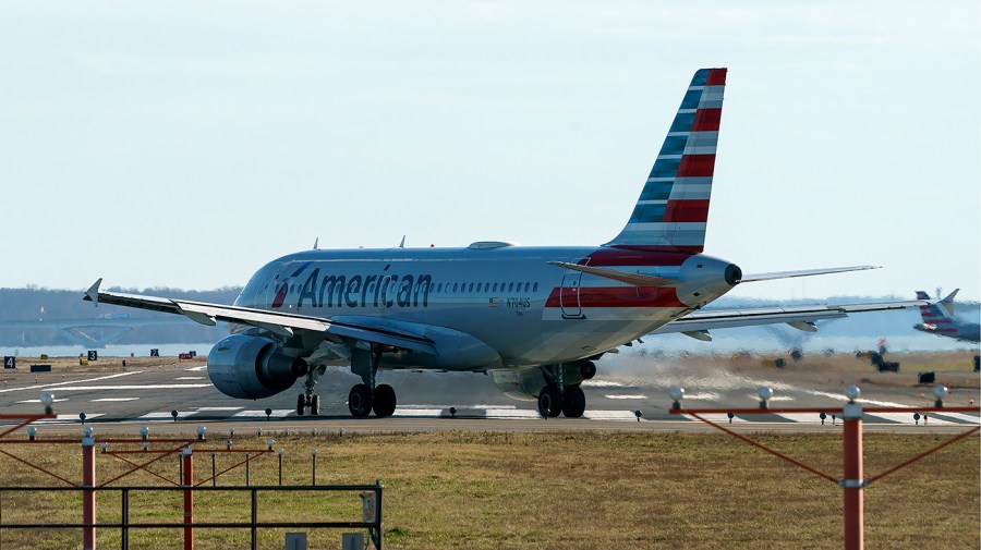
{"label": "thick orange-red post at right holding a light bar", "polygon": [[850,401],[845,404],[845,549],[864,548],[864,493],[862,467],[862,406]]}

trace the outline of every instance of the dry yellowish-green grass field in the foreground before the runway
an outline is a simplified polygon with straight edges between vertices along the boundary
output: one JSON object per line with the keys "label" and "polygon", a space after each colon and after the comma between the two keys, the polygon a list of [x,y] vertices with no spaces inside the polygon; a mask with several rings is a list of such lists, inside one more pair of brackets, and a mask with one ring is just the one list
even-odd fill
{"label": "dry yellowish-green grass field in the foreground before the runway", "polygon": [[[268,435],[237,436],[235,448],[258,448]],[[311,449],[319,484],[385,485],[387,548],[839,548],[841,490],[724,435],[436,432],[386,436],[274,436],[286,450],[283,482],[311,479]],[[758,439],[840,477],[837,435],[761,435]],[[947,436],[865,435],[865,474],[874,475]],[[210,474],[205,442],[196,478]],[[78,479],[80,447],[5,445],[7,452]],[[131,455],[132,456],[132,455]],[[140,456],[136,456],[140,459]],[[218,455],[218,468],[231,455]],[[978,438],[950,445],[865,490],[869,548],[979,547]],[[97,456],[99,479],[124,464]],[[177,479],[177,457],[153,468]],[[276,485],[274,455],[252,464],[253,485]],[[140,474],[126,485],[160,485]],[[219,485],[244,484],[235,469]],[[0,456],[0,485],[55,485]],[[80,498],[62,493],[2,494],[2,524],[81,520]],[[195,496],[195,520],[249,516],[247,497]],[[359,520],[353,494],[261,500],[261,520]],[[119,497],[100,493],[98,518],[118,521]],[[182,517],[179,493],[134,496],[131,521]],[[282,548],[283,534],[261,531],[262,548]],[[338,548],[339,531],[311,534],[311,548]],[[197,533],[197,548],[246,548],[247,531]],[[100,529],[100,548],[120,535]],[[0,529],[0,548],[75,548],[77,533]],[[138,531],[131,548],[179,548],[181,531]]]}

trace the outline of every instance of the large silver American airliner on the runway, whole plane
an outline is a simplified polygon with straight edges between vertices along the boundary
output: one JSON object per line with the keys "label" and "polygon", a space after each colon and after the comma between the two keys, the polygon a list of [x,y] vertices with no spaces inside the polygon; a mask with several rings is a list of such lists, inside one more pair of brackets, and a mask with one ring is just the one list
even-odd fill
{"label": "large silver American airliner on the runway, whole plane", "polygon": [[262,267],[234,305],[100,292],[83,300],[230,323],[208,354],[208,377],[232,398],[264,399],[305,377],[296,413],[318,414],[314,388],[327,366],[361,377],[352,416],[395,413],[389,369],[475,371],[543,417],[581,417],[595,360],[646,334],[814,322],[927,301],[702,310],[743,283],[873,269],[855,266],[744,274],[703,254],[726,69],[695,72],[622,230],[603,245],[319,249]]}

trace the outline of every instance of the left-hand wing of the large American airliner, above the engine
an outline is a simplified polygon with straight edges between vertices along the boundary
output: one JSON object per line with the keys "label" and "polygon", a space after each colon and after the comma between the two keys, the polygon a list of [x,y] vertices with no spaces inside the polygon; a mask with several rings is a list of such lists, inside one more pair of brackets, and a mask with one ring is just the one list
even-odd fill
{"label": "left-hand wing of the large American airliner, above the engine", "polygon": [[280,311],[267,311],[251,307],[228,306],[222,304],[209,304],[205,302],[192,302],[187,300],[164,298],[157,296],[143,296],[138,294],[125,294],[119,292],[100,292],[99,279],[85,292],[83,300],[99,304],[112,304],[138,309],[150,309],[167,314],[178,314],[202,325],[214,326],[217,321],[250,325],[267,330],[279,337],[289,338],[298,331],[311,331],[323,334],[334,341],[362,340],[372,343],[391,345],[403,350],[412,350],[420,353],[436,354],[433,341],[398,331],[387,327],[372,327],[358,322],[337,322],[324,317],[287,314]]}

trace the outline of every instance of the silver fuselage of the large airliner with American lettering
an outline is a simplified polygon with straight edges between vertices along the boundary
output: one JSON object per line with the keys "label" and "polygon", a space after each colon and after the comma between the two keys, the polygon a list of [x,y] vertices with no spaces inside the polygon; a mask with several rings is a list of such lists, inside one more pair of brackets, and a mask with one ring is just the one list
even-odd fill
{"label": "silver fuselage of the large airliner with American lettering", "polygon": [[[548,261],[606,266],[683,283],[637,286]],[[235,305],[390,326],[465,347],[459,339],[440,341],[444,328],[496,352],[496,357],[483,353],[468,358],[453,349],[457,359],[435,364],[396,355],[386,358],[388,368],[509,368],[577,360],[647,334],[728,291],[726,266],[700,254],[504,243],[308,250],[264,266]],[[325,344],[328,350],[320,357],[313,353],[312,360],[332,363],[326,353],[330,343]],[[337,356],[338,363],[343,360]]]}

